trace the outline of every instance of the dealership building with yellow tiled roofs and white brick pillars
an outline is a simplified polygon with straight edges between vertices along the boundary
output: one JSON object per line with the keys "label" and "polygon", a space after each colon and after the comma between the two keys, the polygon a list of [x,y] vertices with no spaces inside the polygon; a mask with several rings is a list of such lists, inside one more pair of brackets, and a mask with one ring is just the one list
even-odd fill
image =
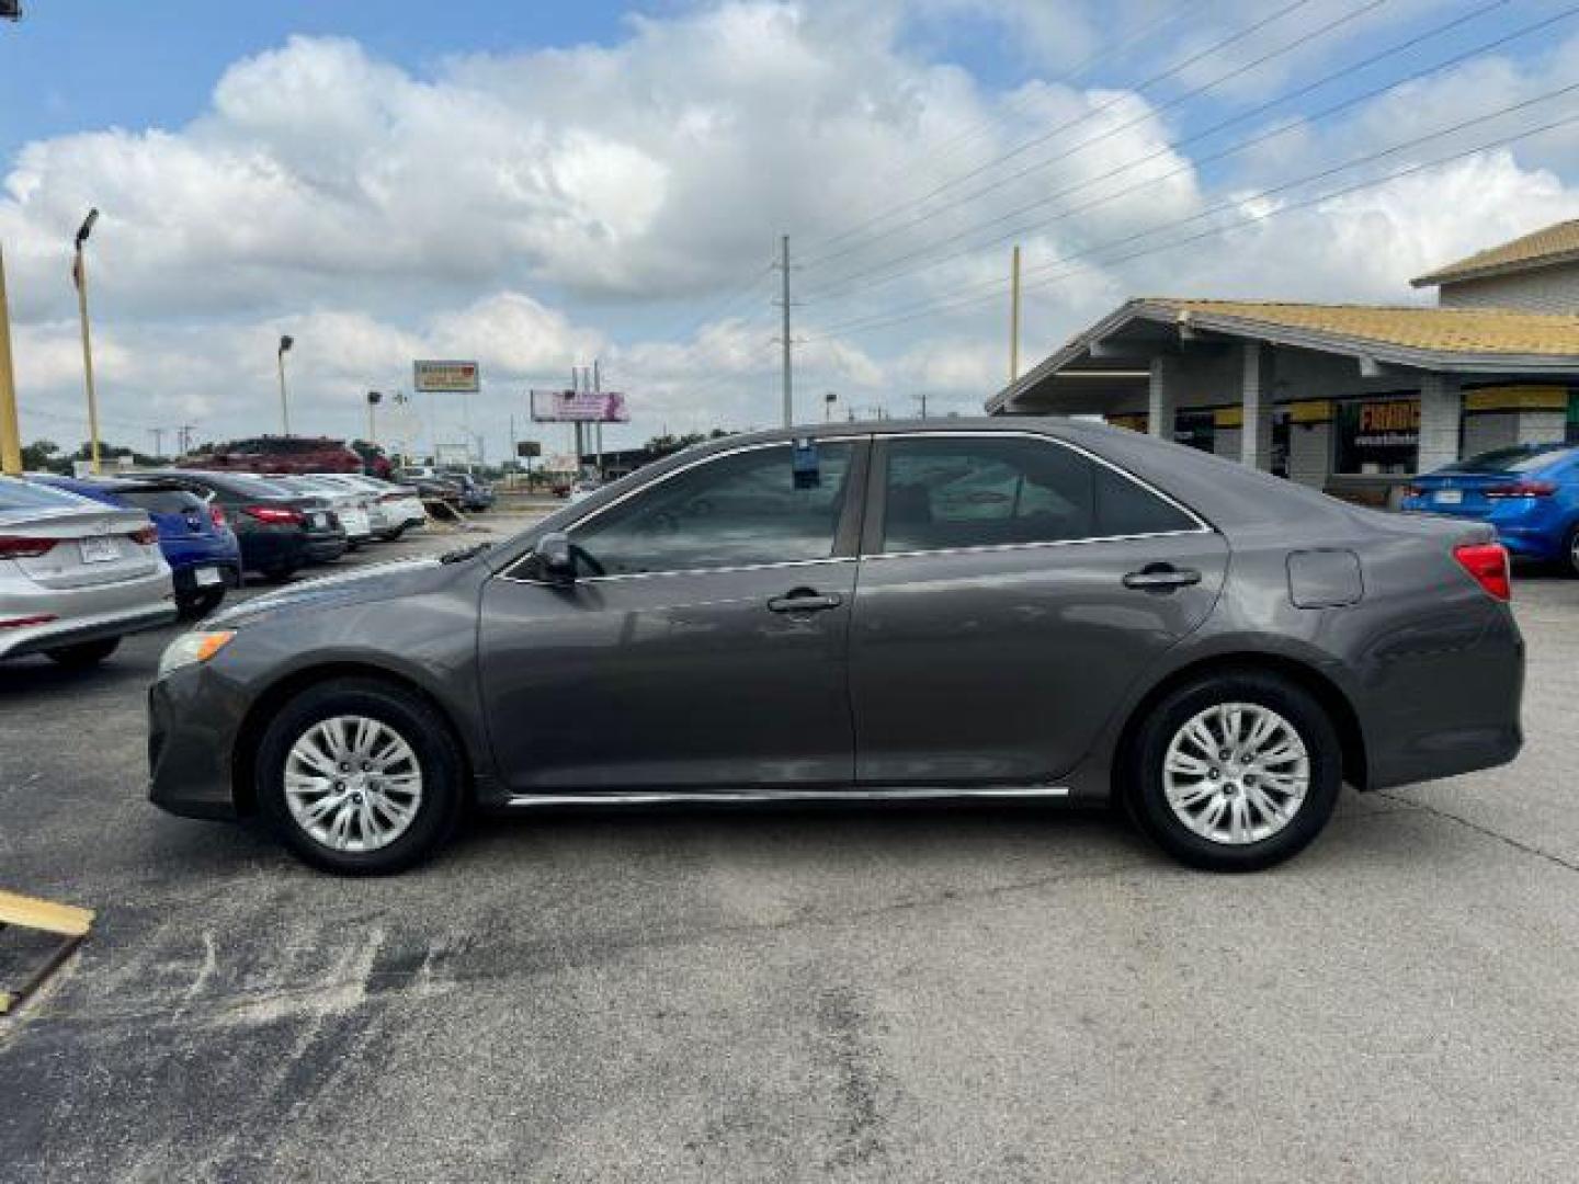
{"label": "dealership building with yellow tiled roofs and white brick pillars", "polygon": [[998,392],[1385,500],[1487,448],[1579,437],[1579,221],[1413,281],[1438,306],[1137,298]]}

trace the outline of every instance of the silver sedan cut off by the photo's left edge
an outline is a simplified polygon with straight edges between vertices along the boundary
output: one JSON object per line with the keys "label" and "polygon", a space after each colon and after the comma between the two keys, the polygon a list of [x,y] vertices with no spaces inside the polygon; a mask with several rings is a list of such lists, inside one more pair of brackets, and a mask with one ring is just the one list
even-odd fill
{"label": "silver sedan cut off by the photo's left edge", "polygon": [[175,589],[148,515],[0,477],[0,658],[88,666],[171,620]]}

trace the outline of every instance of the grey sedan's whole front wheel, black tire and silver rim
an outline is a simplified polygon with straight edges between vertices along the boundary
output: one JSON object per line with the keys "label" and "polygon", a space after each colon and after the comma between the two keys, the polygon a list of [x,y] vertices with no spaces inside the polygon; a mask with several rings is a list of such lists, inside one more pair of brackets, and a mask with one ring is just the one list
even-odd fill
{"label": "grey sedan's whole front wheel, black tire and silver rim", "polygon": [[264,731],[257,804],[308,864],[384,875],[448,838],[463,770],[448,725],[420,696],[335,679],[287,701]]}

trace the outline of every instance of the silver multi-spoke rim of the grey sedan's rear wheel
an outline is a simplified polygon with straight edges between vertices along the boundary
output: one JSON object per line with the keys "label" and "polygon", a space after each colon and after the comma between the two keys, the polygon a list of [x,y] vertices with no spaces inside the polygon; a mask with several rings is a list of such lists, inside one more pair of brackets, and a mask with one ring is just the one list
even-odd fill
{"label": "silver multi-spoke rim of the grey sedan's rear wheel", "polygon": [[1168,808],[1213,843],[1282,830],[1311,789],[1311,755],[1288,720],[1255,703],[1219,703],[1173,734],[1162,758]]}

